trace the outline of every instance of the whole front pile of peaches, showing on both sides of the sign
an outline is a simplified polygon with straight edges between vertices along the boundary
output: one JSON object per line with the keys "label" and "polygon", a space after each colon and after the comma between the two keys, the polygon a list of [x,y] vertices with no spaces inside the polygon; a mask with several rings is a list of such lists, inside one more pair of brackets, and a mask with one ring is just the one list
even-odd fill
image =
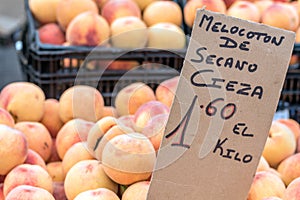
{"label": "whole front pile of peaches, showing on both sides of the sign", "polygon": [[[133,83],[112,105],[86,85],[70,87],[60,99],[39,98],[28,82],[6,85],[0,93],[0,199],[146,199],[178,80],[156,89]],[[41,117],[23,114],[36,109],[23,108],[24,94],[38,98]],[[13,117],[16,108],[22,118]],[[273,121],[248,200],[300,198],[299,145],[297,121]]]}

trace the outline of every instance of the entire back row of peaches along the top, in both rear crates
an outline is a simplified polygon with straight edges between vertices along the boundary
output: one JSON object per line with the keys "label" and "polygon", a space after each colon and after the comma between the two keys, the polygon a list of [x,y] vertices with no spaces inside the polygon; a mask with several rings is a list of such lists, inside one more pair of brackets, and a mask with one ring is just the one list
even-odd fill
{"label": "entire back row of peaches along the top, in both rear crates", "polygon": [[[41,42],[118,48],[185,47],[183,22],[192,27],[197,8],[300,32],[298,1],[29,0]],[[297,42],[300,41],[297,33]]]}

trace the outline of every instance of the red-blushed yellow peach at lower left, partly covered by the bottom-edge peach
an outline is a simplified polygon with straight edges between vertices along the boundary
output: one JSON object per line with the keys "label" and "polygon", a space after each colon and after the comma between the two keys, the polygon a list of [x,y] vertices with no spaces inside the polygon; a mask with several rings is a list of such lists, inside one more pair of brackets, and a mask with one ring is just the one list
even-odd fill
{"label": "red-blushed yellow peach at lower left, partly covered by the bottom-edge peach", "polygon": [[4,196],[19,185],[31,185],[53,192],[51,176],[39,165],[21,164],[13,168],[4,180]]}

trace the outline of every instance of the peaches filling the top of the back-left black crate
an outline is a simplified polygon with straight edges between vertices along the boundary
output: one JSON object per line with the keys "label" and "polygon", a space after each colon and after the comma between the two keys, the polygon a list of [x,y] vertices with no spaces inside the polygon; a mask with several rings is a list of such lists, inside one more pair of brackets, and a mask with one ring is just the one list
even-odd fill
{"label": "peaches filling the top of the back-left black crate", "polygon": [[182,10],[173,1],[29,0],[42,43],[184,49]]}

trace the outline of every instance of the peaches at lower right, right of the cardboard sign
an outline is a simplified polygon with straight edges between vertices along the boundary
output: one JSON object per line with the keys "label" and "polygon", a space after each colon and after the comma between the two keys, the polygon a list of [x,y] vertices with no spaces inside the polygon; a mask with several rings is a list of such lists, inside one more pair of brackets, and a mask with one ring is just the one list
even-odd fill
{"label": "peaches at lower right, right of the cardboard sign", "polygon": [[292,119],[273,121],[248,200],[300,199],[300,127]]}

